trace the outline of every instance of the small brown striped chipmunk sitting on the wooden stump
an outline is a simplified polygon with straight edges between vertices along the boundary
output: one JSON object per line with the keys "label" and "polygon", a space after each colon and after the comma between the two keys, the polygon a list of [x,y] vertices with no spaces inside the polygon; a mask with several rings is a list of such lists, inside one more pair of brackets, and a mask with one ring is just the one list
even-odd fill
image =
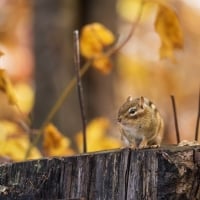
{"label": "small brown striped chipmunk sitting on the wooden stump", "polygon": [[156,106],[147,98],[128,97],[118,113],[121,136],[131,148],[160,146],[164,122]]}

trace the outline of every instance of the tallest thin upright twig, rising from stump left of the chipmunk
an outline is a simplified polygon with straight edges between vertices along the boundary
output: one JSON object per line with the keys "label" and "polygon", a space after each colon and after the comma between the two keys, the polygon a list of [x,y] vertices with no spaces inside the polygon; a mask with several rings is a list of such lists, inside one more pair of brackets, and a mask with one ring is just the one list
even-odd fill
{"label": "tallest thin upright twig, rising from stump left of the chipmunk", "polygon": [[83,98],[83,86],[80,76],[80,45],[79,45],[78,30],[74,31],[74,64],[76,69],[78,100],[80,104],[81,119],[83,126],[83,153],[87,153],[86,114],[85,114],[84,98]]}

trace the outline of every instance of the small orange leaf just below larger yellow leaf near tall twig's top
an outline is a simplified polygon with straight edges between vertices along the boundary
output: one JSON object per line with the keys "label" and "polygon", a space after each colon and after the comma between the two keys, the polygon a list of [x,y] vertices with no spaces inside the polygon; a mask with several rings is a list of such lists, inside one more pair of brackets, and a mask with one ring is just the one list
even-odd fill
{"label": "small orange leaf just below larger yellow leaf near tall twig's top", "polygon": [[107,56],[100,56],[93,60],[92,65],[103,74],[108,74],[112,69],[112,63]]}

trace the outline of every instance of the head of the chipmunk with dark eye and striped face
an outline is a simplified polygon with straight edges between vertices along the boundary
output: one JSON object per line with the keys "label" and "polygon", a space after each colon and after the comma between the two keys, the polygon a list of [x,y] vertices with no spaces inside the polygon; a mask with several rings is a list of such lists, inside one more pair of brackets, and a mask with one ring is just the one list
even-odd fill
{"label": "head of the chipmunk with dark eye and striped face", "polygon": [[[118,112],[118,123],[133,127],[143,121],[147,113],[147,99],[143,96],[133,99],[128,97]],[[144,122],[144,121],[143,121]]]}

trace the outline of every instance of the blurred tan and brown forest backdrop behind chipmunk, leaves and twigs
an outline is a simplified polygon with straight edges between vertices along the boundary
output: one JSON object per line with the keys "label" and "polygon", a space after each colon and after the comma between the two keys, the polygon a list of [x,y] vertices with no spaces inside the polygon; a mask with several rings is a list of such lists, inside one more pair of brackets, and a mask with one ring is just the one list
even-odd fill
{"label": "blurred tan and brown forest backdrop behind chipmunk, leaves and twigs", "polygon": [[[87,121],[109,120],[108,134],[120,138],[116,116],[127,96],[151,99],[165,119],[164,143],[176,143],[170,95],[175,96],[181,140],[193,140],[200,87],[200,3],[168,1],[180,19],[184,49],[175,61],[159,58],[155,32],[156,7],[145,9],[134,35],[112,57],[113,69],[103,75],[90,69],[83,77]],[[139,0],[0,0],[0,66],[15,86],[21,110],[40,128],[65,85],[74,77],[73,31],[99,22],[123,40],[136,20]],[[83,60],[84,62],[84,60]],[[0,94],[1,119],[19,116]],[[77,148],[82,128],[76,89],[53,123]],[[95,134],[95,133],[94,133]],[[98,141],[97,141],[98,143]],[[94,144],[95,145],[95,144]],[[105,147],[106,148],[106,147]]]}

